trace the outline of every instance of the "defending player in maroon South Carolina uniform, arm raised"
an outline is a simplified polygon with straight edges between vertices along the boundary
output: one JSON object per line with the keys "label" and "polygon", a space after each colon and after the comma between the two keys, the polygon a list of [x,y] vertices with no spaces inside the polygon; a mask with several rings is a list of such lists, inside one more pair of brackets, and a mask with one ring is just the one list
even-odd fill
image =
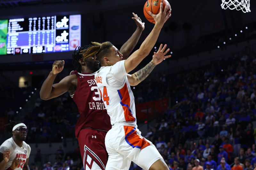
{"label": "defending player in maroon South Carolina uniform, arm raised", "polygon": [[[123,59],[129,56],[144,30],[144,23],[141,22],[141,19],[134,13],[133,16],[132,19],[135,21],[137,29],[120,49]],[[105,169],[108,154],[105,147],[105,136],[111,129],[111,124],[94,81],[94,72],[100,69],[100,63],[96,57],[82,58],[80,51],[86,48],[79,47],[74,51],[72,57],[76,70],[56,84],[53,84],[53,81],[63,70],[64,60],[53,63],[52,71],[41,87],[40,98],[49,100],[69,92],[80,113],[75,133],[84,169]]]}

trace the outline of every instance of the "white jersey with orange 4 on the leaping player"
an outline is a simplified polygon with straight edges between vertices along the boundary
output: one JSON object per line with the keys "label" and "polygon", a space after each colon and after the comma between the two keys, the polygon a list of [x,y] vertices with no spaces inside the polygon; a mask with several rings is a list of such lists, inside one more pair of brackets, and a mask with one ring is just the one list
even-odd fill
{"label": "white jersey with orange 4 on the leaping player", "polygon": [[111,124],[128,123],[137,127],[134,96],[126,75],[123,60],[101,67],[95,74],[95,81]]}

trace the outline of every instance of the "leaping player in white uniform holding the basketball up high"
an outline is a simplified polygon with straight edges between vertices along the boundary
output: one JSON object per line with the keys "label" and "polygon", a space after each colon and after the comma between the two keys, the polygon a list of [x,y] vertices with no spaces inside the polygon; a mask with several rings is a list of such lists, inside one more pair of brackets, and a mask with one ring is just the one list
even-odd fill
{"label": "leaping player in white uniform holding the basketball up high", "polygon": [[165,21],[171,16],[171,10],[167,9],[168,5],[163,10],[161,3],[159,14],[150,13],[156,24],[140,48],[127,60],[122,60],[123,55],[108,41],[92,42],[89,48],[81,51],[84,57],[96,55],[101,64],[95,80],[112,124],[112,129],[105,138],[109,156],[106,170],[128,170],[131,161],[147,170],[169,170],[156,147],[143,138],[137,129],[134,96],[130,85],[138,84],[157,64],[170,57],[171,55],[165,56],[170,49],[165,51],[166,45],[163,47],[161,44],[145,69],[140,73],[127,74],[138,66],[155,45]]}

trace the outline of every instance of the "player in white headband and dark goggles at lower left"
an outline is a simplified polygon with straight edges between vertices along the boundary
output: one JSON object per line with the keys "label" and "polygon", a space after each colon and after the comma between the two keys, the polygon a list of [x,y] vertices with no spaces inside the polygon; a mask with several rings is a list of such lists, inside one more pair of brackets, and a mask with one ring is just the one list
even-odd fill
{"label": "player in white headband and dark goggles at lower left", "polygon": [[28,133],[27,126],[21,122],[10,122],[5,125],[5,130],[12,132],[12,137],[0,146],[0,170],[29,170],[31,148],[24,142]]}

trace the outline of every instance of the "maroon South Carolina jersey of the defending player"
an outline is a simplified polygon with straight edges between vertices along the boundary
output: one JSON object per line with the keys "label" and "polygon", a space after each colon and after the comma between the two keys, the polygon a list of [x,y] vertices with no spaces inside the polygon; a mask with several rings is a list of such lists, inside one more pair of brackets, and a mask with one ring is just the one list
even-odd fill
{"label": "maroon South Carolina jersey of the defending player", "polygon": [[83,128],[103,131],[111,129],[110,118],[101,100],[100,91],[94,80],[94,73],[81,74],[75,70],[71,74],[76,74],[77,77],[76,92],[71,97],[80,113],[75,128],[76,138]]}

